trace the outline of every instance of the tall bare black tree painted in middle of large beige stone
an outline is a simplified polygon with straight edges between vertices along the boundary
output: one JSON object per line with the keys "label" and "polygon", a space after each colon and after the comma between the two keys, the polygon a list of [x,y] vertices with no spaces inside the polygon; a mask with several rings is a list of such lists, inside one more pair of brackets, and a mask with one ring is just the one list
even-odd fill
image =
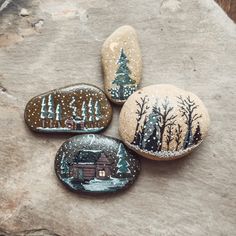
{"label": "tall bare black tree painted in middle of large beige stone", "polygon": [[163,146],[163,137],[165,133],[165,129],[168,126],[174,126],[175,125],[175,118],[177,115],[171,114],[174,107],[170,106],[169,100],[167,97],[165,98],[164,102],[161,104],[161,106],[155,105],[153,107],[153,112],[158,116],[158,126],[160,129],[160,139],[159,139],[159,147],[158,151],[162,150]]}

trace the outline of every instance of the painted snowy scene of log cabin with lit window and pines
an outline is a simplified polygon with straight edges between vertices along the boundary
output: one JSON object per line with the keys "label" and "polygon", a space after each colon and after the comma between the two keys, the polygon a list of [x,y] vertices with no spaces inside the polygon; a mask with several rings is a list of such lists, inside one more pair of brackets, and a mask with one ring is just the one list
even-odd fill
{"label": "painted snowy scene of log cabin with lit window and pines", "polygon": [[[73,149],[68,145],[67,149]],[[61,180],[74,190],[113,192],[133,180],[134,163],[122,143],[113,158],[101,149],[84,149],[71,157],[60,153],[58,173]]]}

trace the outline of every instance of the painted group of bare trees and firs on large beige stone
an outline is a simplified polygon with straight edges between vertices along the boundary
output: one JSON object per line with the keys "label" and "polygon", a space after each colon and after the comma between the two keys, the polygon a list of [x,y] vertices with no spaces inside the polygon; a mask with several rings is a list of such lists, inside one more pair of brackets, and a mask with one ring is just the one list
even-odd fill
{"label": "painted group of bare trees and firs on large beige stone", "polygon": [[[149,105],[148,96],[136,101],[136,128],[131,145],[157,156],[181,154],[202,141],[198,105],[190,96],[178,96],[177,106],[165,97]],[[177,112],[176,112],[177,111]]]}

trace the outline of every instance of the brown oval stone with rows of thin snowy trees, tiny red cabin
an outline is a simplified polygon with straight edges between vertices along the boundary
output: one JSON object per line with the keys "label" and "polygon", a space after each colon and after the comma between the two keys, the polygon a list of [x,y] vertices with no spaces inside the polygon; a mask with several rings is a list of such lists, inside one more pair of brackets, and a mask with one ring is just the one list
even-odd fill
{"label": "brown oval stone with rows of thin snowy trees, tiny red cabin", "polygon": [[89,84],[52,90],[32,98],[25,121],[39,132],[94,133],[106,128],[112,107],[104,92]]}

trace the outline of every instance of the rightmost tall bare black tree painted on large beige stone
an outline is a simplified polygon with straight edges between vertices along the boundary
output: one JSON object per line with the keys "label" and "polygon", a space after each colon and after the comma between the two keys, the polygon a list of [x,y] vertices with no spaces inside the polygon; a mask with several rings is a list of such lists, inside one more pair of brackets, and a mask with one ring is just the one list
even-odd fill
{"label": "rightmost tall bare black tree painted on large beige stone", "polygon": [[187,96],[186,98],[179,96],[177,98],[178,98],[179,110],[181,112],[182,117],[185,118],[185,124],[187,125],[187,132],[185,134],[185,139],[183,143],[183,148],[186,149],[192,144],[193,124],[195,121],[201,118],[202,115],[201,114],[199,115],[196,112],[198,105],[195,103],[193,99],[190,98],[190,96]]}

